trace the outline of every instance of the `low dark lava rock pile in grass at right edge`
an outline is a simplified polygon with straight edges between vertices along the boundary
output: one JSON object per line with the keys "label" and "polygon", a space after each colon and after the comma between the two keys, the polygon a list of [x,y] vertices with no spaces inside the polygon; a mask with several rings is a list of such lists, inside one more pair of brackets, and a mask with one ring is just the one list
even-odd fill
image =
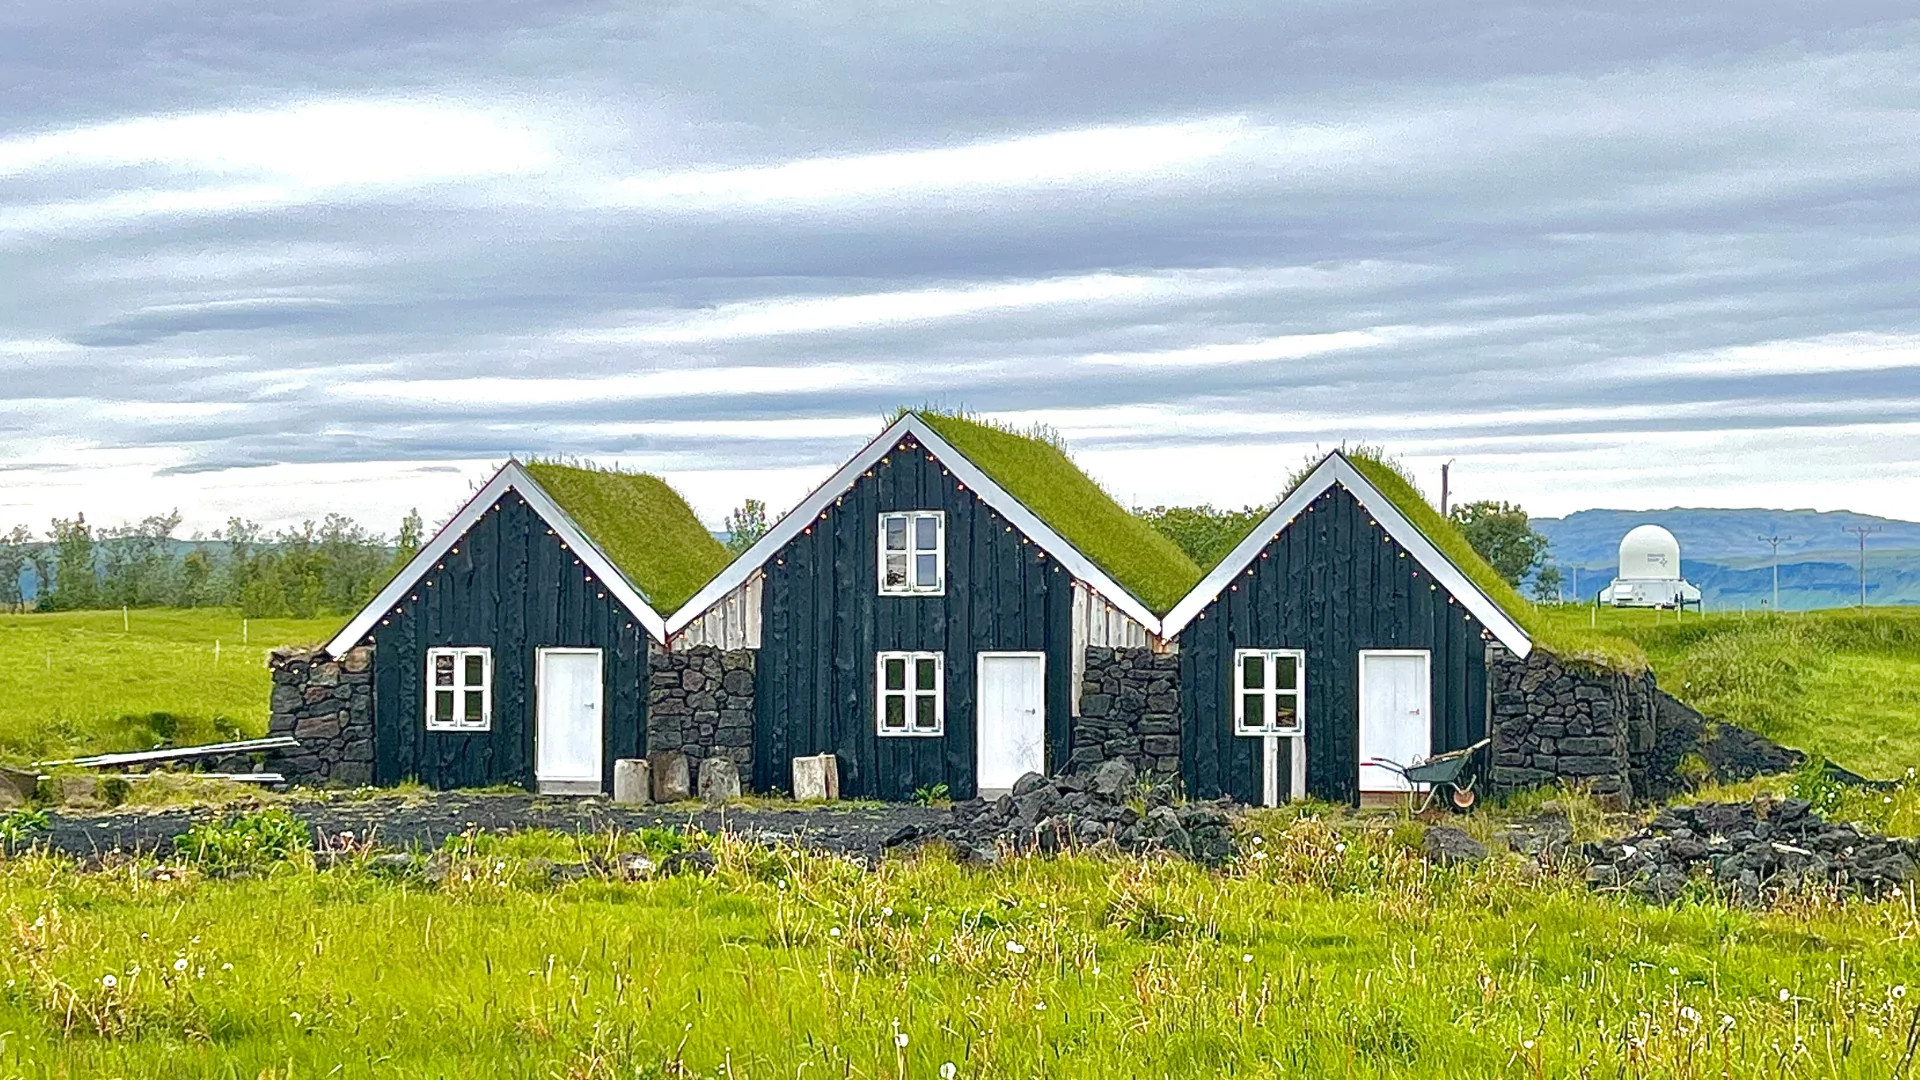
{"label": "low dark lava rock pile in grass at right edge", "polygon": [[1695,876],[1734,903],[1793,890],[1876,897],[1914,876],[1920,840],[1824,821],[1805,799],[1668,807],[1647,828],[1588,844],[1596,890],[1670,903]]}

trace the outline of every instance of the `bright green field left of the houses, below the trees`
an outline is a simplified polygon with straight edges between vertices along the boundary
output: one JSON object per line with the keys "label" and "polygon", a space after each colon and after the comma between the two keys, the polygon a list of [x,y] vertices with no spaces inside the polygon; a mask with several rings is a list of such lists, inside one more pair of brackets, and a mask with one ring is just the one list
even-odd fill
{"label": "bright green field left of the houses, below the trees", "polygon": [[125,623],[119,611],[0,615],[0,757],[263,734],[267,651],[321,642],[340,623],[242,628],[230,609],[134,609]]}

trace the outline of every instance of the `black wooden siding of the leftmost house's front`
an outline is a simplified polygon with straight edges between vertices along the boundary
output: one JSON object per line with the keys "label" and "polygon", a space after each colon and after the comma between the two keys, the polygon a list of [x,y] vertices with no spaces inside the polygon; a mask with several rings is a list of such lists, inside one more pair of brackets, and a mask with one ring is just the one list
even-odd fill
{"label": "black wooden siding of the leftmost house's front", "polygon": [[[376,625],[374,780],[432,788],[534,786],[534,650],[599,648],[603,786],[616,757],[645,753],[647,630],[580,565],[545,519],[509,492]],[[432,582],[432,584],[428,584]],[[426,730],[426,650],[493,650],[493,726]]]}

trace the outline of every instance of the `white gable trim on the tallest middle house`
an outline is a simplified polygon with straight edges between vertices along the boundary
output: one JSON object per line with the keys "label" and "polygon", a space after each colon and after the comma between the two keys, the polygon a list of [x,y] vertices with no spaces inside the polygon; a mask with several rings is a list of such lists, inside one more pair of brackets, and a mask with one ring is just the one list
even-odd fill
{"label": "white gable trim on the tallest middle house", "polygon": [[1064,536],[1054,532],[1044,521],[1041,521],[1031,509],[1027,509],[1020,500],[1016,500],[1006,488],[993,482],[987,473],[981,473],[973,461],[952,448],[950,442],[939,436],[933,427],[914,413],[887,425],[887,430],[879,432],[874,442],[868,442],[860,454],[854,454],[845,465],[839,467],[826,484],[820,484],[814,494],[806,496],[806,502],[793,507],[785,517],[781,517],[766,536],[747,548],[733,563],[720,573],[714,580],[707,582],[707,588],[693,594],[680,611],[674,611],[666,619],[668,636],[678,634],[685,625],[701,617],[708,607],[720,601],[726,594],[741,586],[755,571],[766,565],[787,546],[789,540],[801,534],[803,528],[820,519],[828,503],[847,492],[860,479],[862,473],[874,467],[876,461],[893,454],[902,438],[916,438],[929,454],[947,465],[947,471],[954,475],[962,484],[973,488],[973,492],[991,505],[1000,517],[1004,517],[1014,528],[1025,532],[1043,552],[1052,555],[1062,567],[1066,567],[1075,578],[1079,578],[1087,588],[1098,592],[1108,603],[1125,611],[1133,621],[1146,626],[1148,632],[1160,632],[1160,619],[1146,609],[1144,603],[1135,600],[1131,592],[1119,586],[1112,577],[1106,575],[1092,559],[1083,555]]}

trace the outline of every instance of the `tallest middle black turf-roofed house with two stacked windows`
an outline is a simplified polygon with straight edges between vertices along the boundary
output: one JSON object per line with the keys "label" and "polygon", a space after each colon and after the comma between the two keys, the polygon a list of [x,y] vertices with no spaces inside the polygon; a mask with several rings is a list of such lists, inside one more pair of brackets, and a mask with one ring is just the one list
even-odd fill
{"label": "tallest middle black turf-roofed house with two stacked windows", "polygon": [[753,648],[756,790],[835,753],[845,796],[1062,773],[1087,646],[1146,646],[1200,569],[1054,444],[908,411],[668,619]]}

